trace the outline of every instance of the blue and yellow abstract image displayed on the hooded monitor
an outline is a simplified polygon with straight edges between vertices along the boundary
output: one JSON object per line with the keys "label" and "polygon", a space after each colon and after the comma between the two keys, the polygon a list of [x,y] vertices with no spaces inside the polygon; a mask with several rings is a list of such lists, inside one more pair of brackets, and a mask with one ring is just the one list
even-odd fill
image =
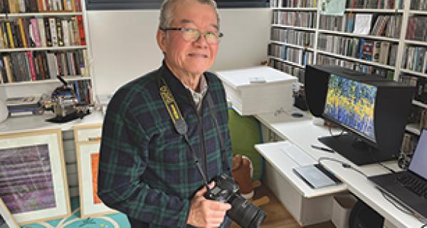
{"label": "blue and yellow abstract image displayed on the hooded monitor", "polygon": [[328,118],[375,140],[375,98],[375,86],[332,74],[327,89],[324,113]]}

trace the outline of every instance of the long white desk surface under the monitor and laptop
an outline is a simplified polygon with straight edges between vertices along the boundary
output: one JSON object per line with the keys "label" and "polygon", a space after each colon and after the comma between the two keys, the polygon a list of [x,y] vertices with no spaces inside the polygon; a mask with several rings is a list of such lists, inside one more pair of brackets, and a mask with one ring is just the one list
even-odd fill
{"label": "long white desk surface under the monitor and laptop", "polygon": [[[279,113],[276,115],[273,113],[267,113],[256,115],[255,117],[281,138],[289,140],[302,148],[302,150],[307,152],[308,155],[315,157],[316,159],[320,157],[332,157],[352,164],[352,162],[349,162],[349,160],[337,153],[312,149],[311,145],[322,145],[317,138],[320,136],[330,135],[330,133],[328,128],[314,125],[312,118],[310,118],[306,113],[303,114],[304,116],[302,118],[292,118],[288,113]],[[327,169],[334,172],[334,174],[347,185],[348,190],[362,199],[365,203],[369,204],[370,207],[376,210],[376,212],[379,212],[379,214],[384,216],[384,218],[389,220],[389,222],[396,225],[396,227],[421,227],[423,225],[415,217],[405,214],[394,207],[393,204],[388,202],[381,195],[381,192],[376,190],[374,184],[367,180],[363,175],[360,175],[354,170],[345,169],[337,162],[323,160],[322,164],[325,165]],[[376,164],[364,165],[362,167],[358,167],[354,164],[352,165],[368,176],[380,175],[389,172],[384,169],[384,167]],[[394,170],[399,170],[396,161],[384,162],[384,165],[387,165]]]}

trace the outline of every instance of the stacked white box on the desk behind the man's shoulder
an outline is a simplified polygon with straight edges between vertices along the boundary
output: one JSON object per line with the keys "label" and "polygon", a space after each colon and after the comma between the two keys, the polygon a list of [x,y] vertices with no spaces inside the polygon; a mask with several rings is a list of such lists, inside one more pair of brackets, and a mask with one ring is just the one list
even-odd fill
{"label": "stacked white box on the desk behind the man's shoulder", "polygon": [[240,115],[274,113],[293,105],[292,84],[297,78],[268,66],[217,71],[227,98]]}

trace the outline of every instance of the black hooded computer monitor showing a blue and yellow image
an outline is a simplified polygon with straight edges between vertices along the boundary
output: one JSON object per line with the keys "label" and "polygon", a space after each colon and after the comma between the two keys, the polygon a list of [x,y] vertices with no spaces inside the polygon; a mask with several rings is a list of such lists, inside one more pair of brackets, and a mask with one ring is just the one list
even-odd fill
{"label": "black hooded computer monitor showing a blue and yellow image", "polygon": [[356,165],[399,156],[413,91],[412,86],[337,66],[307,66],[305,71],[312,115],[346,131],[320,142]]}

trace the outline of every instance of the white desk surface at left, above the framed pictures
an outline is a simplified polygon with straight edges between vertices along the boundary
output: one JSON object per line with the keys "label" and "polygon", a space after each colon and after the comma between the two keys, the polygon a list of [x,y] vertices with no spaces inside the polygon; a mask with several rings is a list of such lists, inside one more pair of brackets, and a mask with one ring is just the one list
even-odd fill
{"label": "white desk surface at left, above the framed pictures", "polygon": [[71,130],[75,125],[102,123],[104,117],[100,112],[93,112],[86,115],[83,119],[72,120],[68,123],[50,123],[46,122],[48,118],[53,118],[53,113],[43,115],[29,115],[22,117],[11,117],[0,123],[0,134],[18,133],[28,130],[39,130],[47,128],[60,128],[61,130]]}

